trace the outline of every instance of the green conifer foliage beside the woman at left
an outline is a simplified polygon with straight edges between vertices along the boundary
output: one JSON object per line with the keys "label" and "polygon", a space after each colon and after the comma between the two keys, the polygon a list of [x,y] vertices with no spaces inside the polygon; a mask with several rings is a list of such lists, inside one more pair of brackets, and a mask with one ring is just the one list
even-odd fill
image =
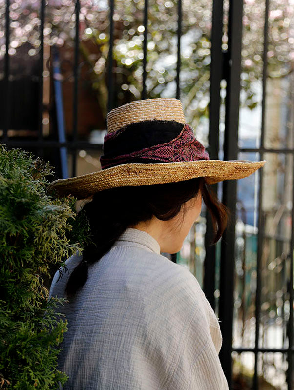
{"label": "green conifer foliage beside the woman at left", "polygon": [[0,389],[56,390],[66,381],[57,369],[66,320],[47,301],[41,275],[80,253],[86,219],[75,218],[73,198],[46,193],[51,167],[20,149],[0,146]]}

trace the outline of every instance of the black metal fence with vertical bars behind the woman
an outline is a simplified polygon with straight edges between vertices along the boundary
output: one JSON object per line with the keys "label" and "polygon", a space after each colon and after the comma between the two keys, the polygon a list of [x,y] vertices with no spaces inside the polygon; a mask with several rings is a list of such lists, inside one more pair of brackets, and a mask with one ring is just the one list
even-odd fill
{"label": "black metal fence with vertical bars behind the woman", "polygon": [[[230,0],[227,5],[229,6],[228,13],[228,44],[227,49],[222,48],[222,37],[224,34],[224,3],[223,0],[214,0],[212,7],[212,28],[211,28],[211,64],[210,64],[210,105],[209,105],[209,153],[211,159],[218,159],[220,150],[223,151],[225,160],[236,160],[240,155],[249,155],[249,153],[255,153],[256,159],[263,159],[265,155],[291,155],[294,156],[293,145],[287,148],[266,147],[264,143],[265,139],[265,112],[266,112],[266,83],[267,83],[267,63],[268,63],[268,15],[270,0],[264,1],[265,18],[264,18],[264,31],[263,31],[263,71],[262,71],[262,105],[261,105],[261,136],[259,147],[239,147],[238,143],[238,126],[239,126],[239,100],[240,100],[240,74],[241,74],[241,51],[242,51],[242,18],[244,4],[240,0]],[[177,1],[177,64],[176,64],[176,98],[180,96],[180,83],[181,83],[181,37],[182,37],[182,0]],[[114,42],[114,21],[113,15],[115,11],[114,0],[109,0],[109,51],[107,56],[107,88],[108,88],[108,111],[115,106],[114,96],[114,78],[113,78],[113,42]],[[143,40],[143,85],[141,98],[148,97],[146,80],[147,80],[147,40],[148,40],[148,11],[150,8],[148,0],[144,2],[143,12],[143,25],[144,25],[144,40]],[[2,119],[3,134],[1,137],[1,143],[7,144],[8,147],[21,147],[24,149],[34,149],[39,156],[43,155],[43,150],[52,149],[54,154],[58,154],[61,149],[68,150],[72,155],[71,160],[71,172],[72,176],[76,175],[77,167],[77,151],[80,149],[94,149],[97,145],[91,144],[86,141],[80,141],[78,138],[78,117],[79,117],[79,63],[80,63],[80,37],[79,37],[79,15],[81,12],[80,1],[75,2],[75,39],[74,39],[74,63],[73,63],[73,128],[72,138],[70,141],[66,141],[64,135],[57,140],[47,140],[43,138],[43,56],[44,56],[44,21],[46,12],[46,1],[40,2],[40,49],[39,49],[39,107],[38,107],[38,136],[35,140],[13,139],[8,137],[8,130],[10,126],[11,118],[11,82],[10,82],[10,0],[6,0],[5,9],[5,44],[6,51],[4,57],[4,73],[3,73],[3,85],[4,85],[4,117]],[[220,126],[220,107],[222,104],[221,98],[221,82],[226,81],[226,98],[225,98],[225,130],[224,130],[224,142],[220,144],[219,138],[219,126]],[[292,128],[293,131],[293,128]],[[64,149],[65,148],[65,149]],[[60,154],[61,167],[67,165],[66,155]],[[62,169],[61,169],[62,171]],[[66,170],[65,170],[66,171]],[[63,170],[63,172],[65,172]],[[293,167],[292,167],[293,176]],[[233,389],[232,382],[232,353],[242,354],[243,352],[252,352],[255,356],[255,363],[253,369],[252,389],[262,389],[259,385],[258,376],[258,356],[266,352],[279,353],[283,356],[287,355],[286,361],[288,362],[287,372],[287,386],[288,389],[292,389],[292,371],[293,371],[293,249],[294,249],[294,233],[293,233],[293,204],[294,204],[294,192],[292,191],[292,205],[290,211],[290,224],[291,224],[291,238],[288,245],[288,252],[286,256],[288,266],[284,267],[285,270],[285,283],[287,288],[283,291],[284,302],[287,301],[289,305],[289,315],[287,317],[287,341],[288,346],[284,343],[282,348],[266,348],[260,345],[260,316],[262,305],[262,272],[263,264],[262,257],[265,250],[265,240],[267,238],[267,232],[265,231],[265,211],[263,210],[263,202],[265,198],[264,191],[267,190],[265,182],[263,180],[262,171],[259,172],[259,185],[258,185],[258,242],[257,242],[257,262],[256,262],[256,290],[255,290],[255,336],[254,345],[252,347],[241,346],[232,347],[233,340],[233,318],[234,318],[234,304],[235,304],[235,248],[236,248],[236,223],[237,214],[237,183],[235,181],[226,181],[222,185],[222,200],[231,210],[231,224],[227,228],[222,241],[221,241],[221,256],[220,256],[220,275],[219,275],[219,298],[218,298],[218,316],[220,319],[220,326],[223,335],[223,346],[220,352],[220,359],[222,367],[228,379],[230,388]],[[293,184],[293,178],[292,184]],[[217,185],[214,185],[214,190],[217,192]],[[213,308],[215,308],[215,291],[216,291],[216,263],[217,254],[216,247],[210,246],[210,238],[213,235],[212,224],[210,218],[207,217],[207,230],[205,239],[206,257],[204,261],[204,280],[203,288],[205,294]],[[277,240],[276,237],[271,239]],[[246,250],[246,248],[245,248]],[[284,252],[283,252],[284,253]],[[279,256],[279,255],[278,255]],[[284,256],[285,257],[285,256]],[[287,269],[286,269],[287,268]],[[245,278],[245,276],[244,276]],[[287,295],[288,294],[288,295]],[[244,326],[244,324],[243,324]]]}

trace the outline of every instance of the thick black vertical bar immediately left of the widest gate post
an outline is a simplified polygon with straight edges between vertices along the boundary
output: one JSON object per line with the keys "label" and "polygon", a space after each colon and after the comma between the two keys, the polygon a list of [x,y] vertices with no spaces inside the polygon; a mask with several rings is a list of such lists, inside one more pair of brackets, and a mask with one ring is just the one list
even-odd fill
{"label": "thick black vertical bar immediately left of the widest gate post", "polygon": [[[210,65],[210,104],[209,104],[209,152],[210,159],[218,159],[219,151],[219,110],[220,110],[220,82],[222,78],[222,32],[223,32],[223,0],[214,0],[212,5],[211,29],[211,65]],[[217,184],[211,185],[217,194]],[[213,226],[210,213],[206,213],[205,233],[205,260],[204,260],[204,293],[215,309],[215,257],[216,246],[211,245]]]}

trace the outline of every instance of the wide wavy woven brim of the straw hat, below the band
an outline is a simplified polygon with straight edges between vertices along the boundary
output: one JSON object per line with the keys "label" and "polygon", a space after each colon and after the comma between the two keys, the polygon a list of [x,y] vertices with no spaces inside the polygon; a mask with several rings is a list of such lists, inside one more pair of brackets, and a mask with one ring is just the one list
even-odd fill
{"label": "wide wavy woven brim of the straw hat, below the band", "polygon": [[250,176],[265,161],[198,160],[174,163],[129,163],[70,179],[55,180],[48,191],[64,197],[85,199],[96,192],[115,187],[164,184],[204,177],[208,184]]}

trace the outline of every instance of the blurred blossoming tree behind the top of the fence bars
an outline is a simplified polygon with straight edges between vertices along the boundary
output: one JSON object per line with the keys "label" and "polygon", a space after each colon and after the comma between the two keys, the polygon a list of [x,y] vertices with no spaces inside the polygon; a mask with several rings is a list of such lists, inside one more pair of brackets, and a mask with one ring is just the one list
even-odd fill
{"label": "blurred blossoming tree behind the top of the fence bars", "polygon": [[[92,86],[101,105],[107,100],[106,67],[109,48],[109,3],[107,0],[81,0],[79,17],[80,50],[92,73]],[[0,0],[0,59],[5,53],[5,0]],[[114,20],[114,78],[118,104],[140,98],[142,90],[144,0],[117,0]],[[224,22],[227,23],[228,1]],[[40,0],[11,0],[10,47],[29,43],[28,54],[40,47]],[[210,33],[212,0],[183,0],[181,38],[181,98],[187,120],[194,127],[208,116],[210,86]],[[263,68],[264,0],[244,0],[241,104],[253,109],[256,97],[252,85],[261,80]],[[47,0],[44,44],[73,46],[75,1]],[[177,61],[177,1],[150,0],[147,35],[147,92],[149,97],[174,97]],[[284,77],[293,71],[294,0],[271,0],[269,13],[268,75]],[[94,43],[89,50],[86,41]],[[226,28],[223,50],[228,48]],[[93,46],[91,46],[93,47]],[[106,108],[105,108],[106,109]]]}

